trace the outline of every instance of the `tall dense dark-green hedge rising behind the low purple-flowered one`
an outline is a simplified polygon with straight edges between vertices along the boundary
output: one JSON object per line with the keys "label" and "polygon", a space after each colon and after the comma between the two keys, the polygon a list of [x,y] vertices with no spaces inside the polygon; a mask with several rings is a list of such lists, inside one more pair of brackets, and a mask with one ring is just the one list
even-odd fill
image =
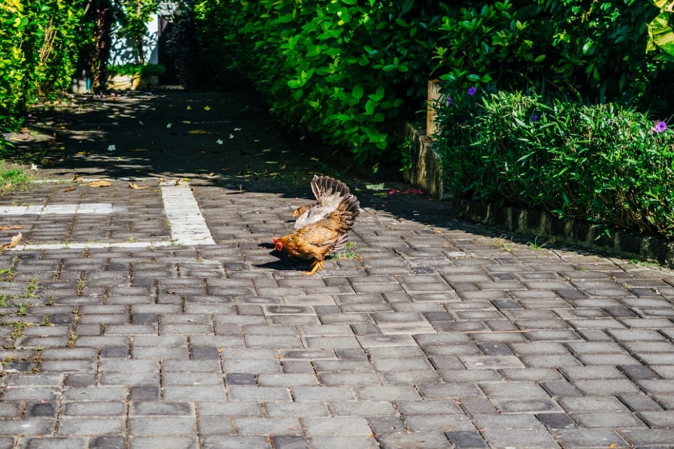
{"label": "tall dense dark-green hedge rising behind the low purple-flowered one", "polygon": [[244,78],[285,126],[372,162],[398,156],[431,78],[666,107],[674,65],[645,52],[659,13],[636,0],[201,0],[190,17],[214,85]]}

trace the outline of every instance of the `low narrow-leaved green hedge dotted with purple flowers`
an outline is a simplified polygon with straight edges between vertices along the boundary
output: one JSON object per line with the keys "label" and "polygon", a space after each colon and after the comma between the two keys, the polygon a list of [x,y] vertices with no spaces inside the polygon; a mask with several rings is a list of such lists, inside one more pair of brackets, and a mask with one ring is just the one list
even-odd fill
{"label": "low narrow-leaved green hedge dotted with purple flowers", "polygon": [[674,131],[664,120],[479,89],[437,112],[451,196],[674,237]]}

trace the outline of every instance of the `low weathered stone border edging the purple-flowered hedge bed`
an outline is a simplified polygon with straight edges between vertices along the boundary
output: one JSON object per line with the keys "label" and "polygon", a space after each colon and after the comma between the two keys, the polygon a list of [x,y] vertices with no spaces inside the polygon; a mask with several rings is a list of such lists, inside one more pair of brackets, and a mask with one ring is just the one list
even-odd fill
{"label": "low weathered stone border edging the purple-flowered hedge bed", "polygon": [[[442,158],[433,148],[433,141],[414,125],[405,124],[405,135],[412,142],[411,168],[403,172],[405,182],[438,200],[444,198]],[[674,268],[674,241],[615,230],[611,236],[598,229],[598,223],[579,219],[560,219],[546,211],[523,207],[496,206],[477,200],[454,199],[448,203],[451,216],[473,221],[512,233],[535,235],[615,256],[655,260]]]}

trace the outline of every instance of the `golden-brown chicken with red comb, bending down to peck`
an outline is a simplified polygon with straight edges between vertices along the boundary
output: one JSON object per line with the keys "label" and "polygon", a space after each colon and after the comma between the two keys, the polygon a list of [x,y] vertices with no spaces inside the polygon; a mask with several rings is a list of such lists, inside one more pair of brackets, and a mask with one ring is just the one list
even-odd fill
{"label": "golden-brown chicken with red comb, bending down to peck", "polygon": [[315,274],[323,269],[323,260],[329,253],[346,244],[347,233],[359,214],[359,207],[358,198],[351,194],[343,196],[327,218],[294,229],[283,237],[274,237],[274,249],[285,250],[288,256],[313,260],[311,270],[302,274]]}

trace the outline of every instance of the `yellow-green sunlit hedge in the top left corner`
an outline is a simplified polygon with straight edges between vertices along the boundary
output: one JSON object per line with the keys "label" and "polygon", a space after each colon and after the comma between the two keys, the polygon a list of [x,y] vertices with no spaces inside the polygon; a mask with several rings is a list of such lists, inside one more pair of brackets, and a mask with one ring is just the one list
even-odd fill
{"label": "yellow-green sunlit hedge in the top left corner", "polygon": [[[37,95],[70,87],[82,15],[82,1],[0,3],[0,131],[20,126]],[[0,138],[0,152],[6,145]]]}

